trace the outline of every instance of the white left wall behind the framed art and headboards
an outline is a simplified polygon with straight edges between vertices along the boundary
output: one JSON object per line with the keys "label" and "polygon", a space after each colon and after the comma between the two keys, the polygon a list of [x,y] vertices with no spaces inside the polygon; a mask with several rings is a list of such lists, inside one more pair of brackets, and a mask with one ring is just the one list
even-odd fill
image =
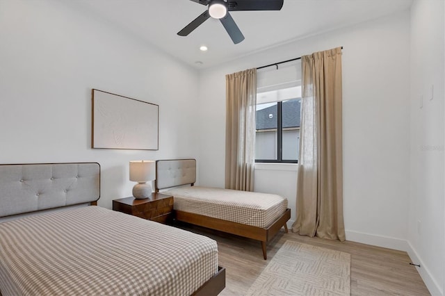
{"label": "white left wall behind the framed art and headboards", "polygon": [[[97,161],[111,208],[129,161],[196,156],[197,72],[81,1],[0,1],[0,42],[0,163]],[[92,88],[159,104],[159,151],[91,149]]]}

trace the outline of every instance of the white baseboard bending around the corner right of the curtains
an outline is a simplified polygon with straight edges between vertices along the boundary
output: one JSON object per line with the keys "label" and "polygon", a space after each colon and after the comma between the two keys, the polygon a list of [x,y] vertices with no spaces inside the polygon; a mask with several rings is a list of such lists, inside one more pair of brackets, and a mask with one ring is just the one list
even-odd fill
{"label": "white baseboard bending around the corner right of the curtains", "polygon": [[426,285],[426,288],[430,291],[433,296],[444,296],[444,291],[439,286],[437,281],[431,277],[431,273],[428,270],[428,266],[426,266],[422,259],[418,256],[415,249],[412,247],[410,242],[407,240],[403,240],[400,238],[389,238],[387,236],[376,236],[374,234],[362,233],[357,231],[345,231],[346,232],[346,240],[350,240],[353,242],[361,242],[366,245],[373,245],[377,247],[386,247],[389,249],[397,249],[399,251],[407,252],[408,256],[412,263],[420,264],[421,268],[417,268],[417,272],[419,272],[423,282]]}

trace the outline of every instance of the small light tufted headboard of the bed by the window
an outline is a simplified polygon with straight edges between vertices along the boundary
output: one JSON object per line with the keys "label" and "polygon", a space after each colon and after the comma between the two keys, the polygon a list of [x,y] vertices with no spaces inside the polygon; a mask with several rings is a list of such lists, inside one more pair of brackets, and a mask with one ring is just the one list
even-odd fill
{"label": "small light tufted headboard of the bed by the window", "polygon": [[196,182],[195,159],[168,159],[156,161],[156,192],[159,189],[181,186]]}

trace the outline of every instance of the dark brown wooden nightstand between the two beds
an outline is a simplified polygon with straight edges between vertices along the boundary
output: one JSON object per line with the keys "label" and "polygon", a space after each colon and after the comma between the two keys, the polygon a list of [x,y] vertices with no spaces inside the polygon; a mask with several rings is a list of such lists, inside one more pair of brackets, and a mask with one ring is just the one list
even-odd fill
{"label": "dark brown wooden nightstand between the two beds", "polygon": [[165,224],[172,220],[173,197],[153,192],[146,199],[134,197],[114,199],[113,210]]}

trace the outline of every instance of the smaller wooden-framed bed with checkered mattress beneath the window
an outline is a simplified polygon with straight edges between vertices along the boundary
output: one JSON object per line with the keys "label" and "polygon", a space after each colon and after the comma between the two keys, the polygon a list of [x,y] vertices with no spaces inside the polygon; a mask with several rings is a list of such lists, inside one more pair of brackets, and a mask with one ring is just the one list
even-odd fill
{"label": "smaller wooden-framed bed with checkered mattress beneath the window", "polygon": [[287,199],[278,195],[194,186],[195,159],[156,161],[156,192],[173,195],[175,219],[267,242],[291,217]]}

